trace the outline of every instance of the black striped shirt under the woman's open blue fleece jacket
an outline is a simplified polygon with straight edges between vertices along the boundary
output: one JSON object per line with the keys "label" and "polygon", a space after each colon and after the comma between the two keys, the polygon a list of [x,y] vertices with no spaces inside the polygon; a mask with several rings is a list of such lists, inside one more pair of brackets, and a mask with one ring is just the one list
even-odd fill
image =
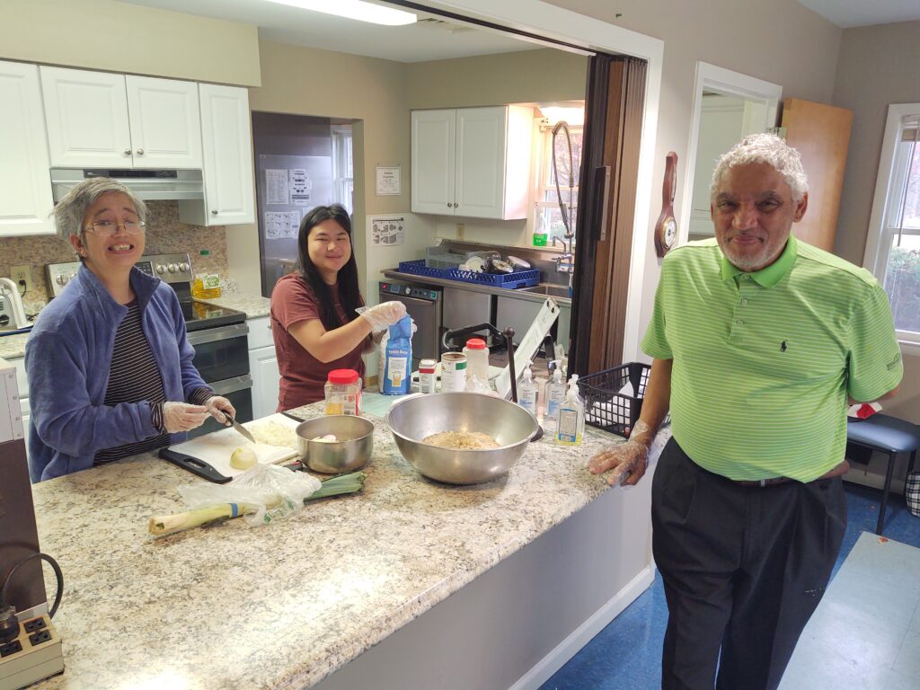
{"label": "black striped shirt under the woman's open blue fleece jacket", "polygon": [[[144,328],[141,327],[141,309],[137,300],[127,306],[128,314],[115,331],[115,348],[112,351],[109,386],[106,388],[104,403],[109,407],[115,407],[120,403],[149,400],[151,403],[162,405],[166,401],[163,378],[144,335]],[[162,431],[136,443],[125,443],[115,448],[100,450],[93,464],[103,465],[165,445],[169,445],[169,434]]]}

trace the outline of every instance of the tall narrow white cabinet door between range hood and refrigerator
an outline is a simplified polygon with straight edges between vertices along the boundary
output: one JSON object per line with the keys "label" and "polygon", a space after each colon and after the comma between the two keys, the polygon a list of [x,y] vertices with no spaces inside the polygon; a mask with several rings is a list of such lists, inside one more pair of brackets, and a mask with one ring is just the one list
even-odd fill
{"label": "tall narrow white cabinet door between range hood and refrigerator", "polygon": [[[200,84],[204,218],[200,224],[254,223],[249,95],[238,86]],[[188,204],[180,204],[180,213]]]}

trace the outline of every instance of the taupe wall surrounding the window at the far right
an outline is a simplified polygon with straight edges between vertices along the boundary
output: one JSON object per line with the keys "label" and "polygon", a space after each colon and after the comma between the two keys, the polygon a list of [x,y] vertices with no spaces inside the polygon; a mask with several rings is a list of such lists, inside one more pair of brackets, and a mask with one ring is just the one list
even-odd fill
{"label": "taupe wall surrounding the window at the far right", "polygon": [[[861,266],[890,103],[920,103],[920,21],[846,29],[834,105],[853,111],[834,253]],[[920,357],[904,356],[904,378],[886,411],[920,424]]]}

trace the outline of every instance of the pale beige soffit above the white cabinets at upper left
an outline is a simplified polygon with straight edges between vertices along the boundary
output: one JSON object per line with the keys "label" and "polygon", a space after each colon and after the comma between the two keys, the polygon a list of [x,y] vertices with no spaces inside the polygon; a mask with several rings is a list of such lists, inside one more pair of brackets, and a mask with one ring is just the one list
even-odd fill
{"label": "pale beige soffit above the white cabinets at upper left", "polygon": [[0,58],[259,85],[259,31],[111,0],[3,0]]}

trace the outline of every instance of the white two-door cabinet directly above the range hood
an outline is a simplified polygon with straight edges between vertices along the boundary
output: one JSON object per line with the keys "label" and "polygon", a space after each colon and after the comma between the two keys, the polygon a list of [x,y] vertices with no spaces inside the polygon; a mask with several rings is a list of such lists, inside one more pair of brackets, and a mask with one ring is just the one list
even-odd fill
{"label": "white two-door cabinet directly above the range hood", "polygon": [[194,82],[40,68],[52,167],[200,168]]}

